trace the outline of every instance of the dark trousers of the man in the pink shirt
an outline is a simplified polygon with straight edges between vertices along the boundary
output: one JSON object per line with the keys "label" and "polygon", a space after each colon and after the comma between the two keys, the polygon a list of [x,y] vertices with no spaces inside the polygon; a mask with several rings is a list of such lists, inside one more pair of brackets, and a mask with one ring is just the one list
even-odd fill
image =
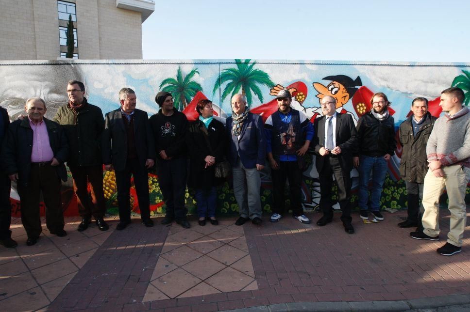
{"label": "dark trousers of the man in the pink shirt", "polygon": [[46,204],[46,225],[50,232],[64,229],[64,215],[60,193],[60,178],[48,163],[32,163],[28,184],[18,184],[21,202],[21,222],[30,238],[42,232],[39,200],[42,192]]}

